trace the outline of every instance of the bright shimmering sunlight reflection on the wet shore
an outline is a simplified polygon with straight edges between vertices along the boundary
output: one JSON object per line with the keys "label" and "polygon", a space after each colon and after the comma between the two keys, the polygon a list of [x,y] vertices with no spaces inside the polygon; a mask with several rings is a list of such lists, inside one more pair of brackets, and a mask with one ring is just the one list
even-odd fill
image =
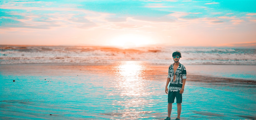
{"label": "bright shimmering sunlight reflection on the wet shore", "polygon": [[141,61],[122,61],[116,66],[117,89],[120,91],[122,100],[118,101],[119,113],[124,119],[147,118],[152,111],[145,110],[150,108],[148,103],[151,101],[147,89],[148,81],[145,79],[148,65]]}

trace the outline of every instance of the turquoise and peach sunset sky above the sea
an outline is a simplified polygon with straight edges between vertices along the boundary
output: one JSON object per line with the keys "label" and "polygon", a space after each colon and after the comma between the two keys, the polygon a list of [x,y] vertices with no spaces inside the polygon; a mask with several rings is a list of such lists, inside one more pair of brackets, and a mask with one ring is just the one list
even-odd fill
{"label": "turquoise and peach sunset sky above the sea", "polygon": [[0,44],[256,46],[256,0],[0,0]]}

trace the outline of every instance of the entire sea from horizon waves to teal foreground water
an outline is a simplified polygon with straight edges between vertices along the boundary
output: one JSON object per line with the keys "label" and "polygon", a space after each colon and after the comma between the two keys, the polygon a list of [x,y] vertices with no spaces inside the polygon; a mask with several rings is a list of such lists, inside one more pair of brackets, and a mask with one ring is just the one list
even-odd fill
{"label": "entire sea from horizon waves to teal foreground water", "polygon": [[256,119],[255,49],[0,47],[0,119],[164,119],[174,51],[187,70],[181,119]]}

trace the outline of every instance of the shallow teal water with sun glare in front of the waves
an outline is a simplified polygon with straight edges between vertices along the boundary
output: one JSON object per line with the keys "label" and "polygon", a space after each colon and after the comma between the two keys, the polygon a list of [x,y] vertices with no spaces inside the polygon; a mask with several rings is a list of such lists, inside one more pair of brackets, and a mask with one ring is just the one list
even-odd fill
{"label": "shallow teal water with sun glare in front of the waves", "polygon": [[[167,116],[167,70],[162,66],[122,61],[1,65],[0,70],[1,119],[158,120]],[[216,86],[188,78],[181,119],[255,119],[255,106],[255,85]],[[171,118],[176,116],[174,103]]]}

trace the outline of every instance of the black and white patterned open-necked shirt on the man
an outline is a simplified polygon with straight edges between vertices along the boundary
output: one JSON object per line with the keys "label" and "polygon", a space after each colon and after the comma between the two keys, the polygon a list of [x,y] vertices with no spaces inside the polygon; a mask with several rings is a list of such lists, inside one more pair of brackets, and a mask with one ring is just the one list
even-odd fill
{"label": "black and white patterned open-necked shirt on the man", "polygon": [[169,66],[168,70],[168,78],[171,79],[169,85],[170,92],[179,91],[183,84],[182,80],[187,79],[187,72],[185,66],[179,63],[179,66],[174,74],[173,65],[174,63]]}

